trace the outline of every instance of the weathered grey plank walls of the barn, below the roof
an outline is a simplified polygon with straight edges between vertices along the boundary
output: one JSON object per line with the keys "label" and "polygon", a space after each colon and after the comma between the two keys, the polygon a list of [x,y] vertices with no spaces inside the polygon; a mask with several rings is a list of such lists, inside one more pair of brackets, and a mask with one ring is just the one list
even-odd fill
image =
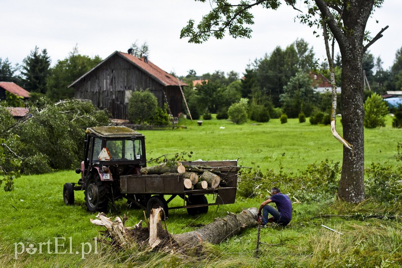
{"label": "weathered grey plank walls of the barn, below the roof", "polygon": [[173,114],[177,116],[181,112],[182,98],[178,87],[164,87],[118,55],[78,81],[74,86],[74,97],[90,99],[98,108],[109,110],[113,118],[128,119],[126,90],[147,88],[156,96],[160,107],[165,103],[164,89]]}

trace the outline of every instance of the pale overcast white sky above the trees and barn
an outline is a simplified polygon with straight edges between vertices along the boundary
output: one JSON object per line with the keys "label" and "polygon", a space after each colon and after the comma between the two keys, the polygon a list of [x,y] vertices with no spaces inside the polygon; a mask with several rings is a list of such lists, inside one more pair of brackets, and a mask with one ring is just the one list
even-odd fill
{"label": "pale overcast white sky above the trees and barn", "polygon": [[[300,24],[295,19],[297,11],[286,5],[277,11],[255,9],[251,39],[226,35],[203,44],[180,39],[180,30],[189,19],[198,22],[210,10],[208,1],[193,0],[0,0],[0,58],[22,64],[38,46],[47,50],[54,66],[75,46],[81,55],[105,59],[116,50],[127,52],[137,41],[139,45],[146,42],[148,59],[169,73],[185,76],[191,69],[197,75],[233,70],[242,75],[248,64],[275,47],[285,49],[296,39],[304,39],[319,62],[326,59],[322,38]],[[401,10],[402,1],[385,0],[366,27],[373,37],[389,26],[369,48],[375,58],[380,56],[384,69],[392,66],[396,50],[402,47]]]}

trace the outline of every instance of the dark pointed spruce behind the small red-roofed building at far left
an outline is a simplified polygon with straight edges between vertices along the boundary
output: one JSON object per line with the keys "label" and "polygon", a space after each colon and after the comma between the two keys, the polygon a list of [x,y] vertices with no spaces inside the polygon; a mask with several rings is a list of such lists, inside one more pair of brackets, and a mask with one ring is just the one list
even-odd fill
{"label": "dark pointed spruce behind the small red-roofed building at far left", "polygon": [[50,74],[50,57],[47,50],[42,52],[35,46],[31,54],[23,60],[22,75],[24,88],[30,92],[46,93],[46,79]]}

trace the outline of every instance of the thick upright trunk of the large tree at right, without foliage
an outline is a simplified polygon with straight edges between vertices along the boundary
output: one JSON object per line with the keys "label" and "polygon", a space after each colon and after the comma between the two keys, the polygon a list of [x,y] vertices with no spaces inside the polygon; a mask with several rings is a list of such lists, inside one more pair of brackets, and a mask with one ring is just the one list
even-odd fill
{"label": "thick upright trunk of the large tree at right, without foliage", "polygon": [[364,200],[364,35],[374,0],[344,1],[343,35],[334,33],[342,55],[343,136],[353,146],[343,148],[342,175],[338,197],[352,203]]}

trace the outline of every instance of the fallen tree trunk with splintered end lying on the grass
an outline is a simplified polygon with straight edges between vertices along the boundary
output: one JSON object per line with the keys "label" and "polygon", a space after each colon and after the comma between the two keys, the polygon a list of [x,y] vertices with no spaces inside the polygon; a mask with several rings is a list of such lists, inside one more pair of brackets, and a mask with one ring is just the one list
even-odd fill
{"label": "fallen tree trunk with splintered end lying on the grass", "polygon": [[106,228],[105,239],[111,239],[112,244],[120,248],[150,246],[162,250],[187,250],[202,247],[204,242],[221,243],[227,238],[239,234],[243,229],[257,226],[257,208],[248,208],[239,214],[228,213],[224,218],[216,218],[214,222],[204,227],[182,234],[169,234],[162,227],[161,208],[152,209],[149,228],[142,227],[140,221],[133,227],[125,227],[119,217],[112,221],[105,214],[99,213],[97,220],[91,220],[95,225]]}

